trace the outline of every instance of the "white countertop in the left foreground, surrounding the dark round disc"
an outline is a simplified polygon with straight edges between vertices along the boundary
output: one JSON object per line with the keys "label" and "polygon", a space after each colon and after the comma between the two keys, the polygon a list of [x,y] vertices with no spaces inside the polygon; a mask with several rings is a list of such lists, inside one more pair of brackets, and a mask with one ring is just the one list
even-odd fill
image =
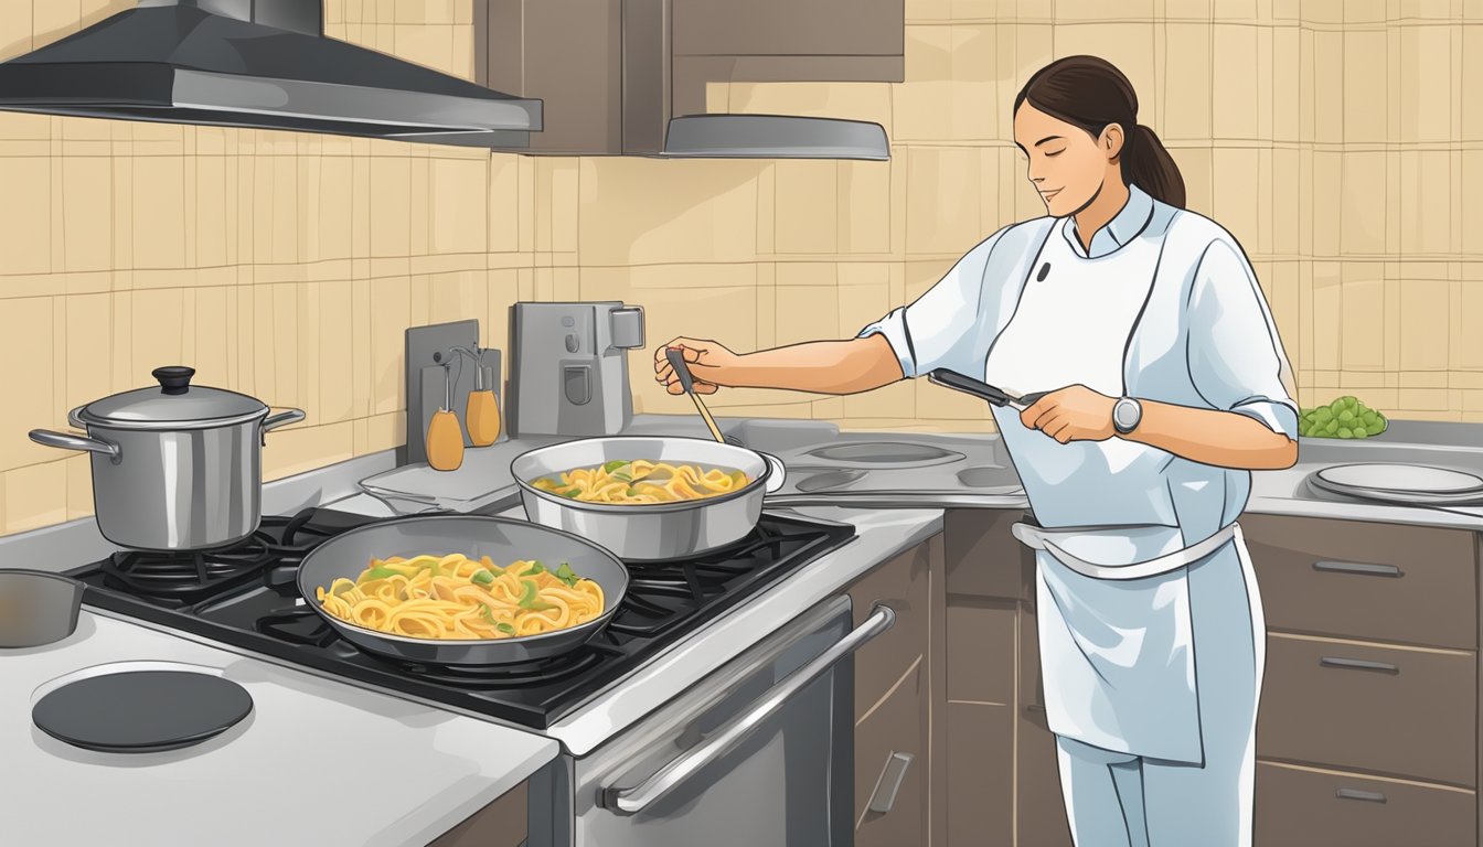
{"label": "white countertop in the left foreground, surrounding the dark round disc", "polygon": [[[254,708],[193,748],[101,754],[36,728],[58,676],[172,663]],[[128,665],[119,669],[142,669]],[[0,650],[0,843],[424,846],[556,758],[555,742],[83,611],[65,641]]]}

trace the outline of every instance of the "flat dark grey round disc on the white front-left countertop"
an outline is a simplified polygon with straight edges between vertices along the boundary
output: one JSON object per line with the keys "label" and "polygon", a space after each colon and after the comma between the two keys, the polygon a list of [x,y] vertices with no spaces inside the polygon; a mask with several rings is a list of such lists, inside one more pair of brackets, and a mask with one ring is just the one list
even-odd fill
{"label": "flat dark grey round disc on the white front-left countertop", "polygon": [[147,754],[205,742],[252,712],[231,679],[190,670],[128,670],[68,682],[37,700],[46,734],[89,751]]}

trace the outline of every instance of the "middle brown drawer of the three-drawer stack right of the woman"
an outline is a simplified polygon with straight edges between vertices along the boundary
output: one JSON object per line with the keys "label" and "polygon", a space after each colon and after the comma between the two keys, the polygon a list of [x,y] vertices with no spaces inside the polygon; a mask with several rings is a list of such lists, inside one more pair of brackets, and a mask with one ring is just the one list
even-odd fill
{"label": "middle brown drawer of the three-drawer stack right of the woman", "polygon": [[1474,656],[1283,636],[1266,645],[1258,755],[1476,783]]}

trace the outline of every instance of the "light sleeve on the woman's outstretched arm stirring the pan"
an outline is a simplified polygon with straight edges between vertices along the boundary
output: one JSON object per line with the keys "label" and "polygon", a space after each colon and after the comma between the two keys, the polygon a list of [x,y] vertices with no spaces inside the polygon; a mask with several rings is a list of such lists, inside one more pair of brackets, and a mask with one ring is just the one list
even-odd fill
{"label": "light sleeve on the woman's outstretched arm stirring the pan", "polygon": [[921,377],[936,368],[968,372],[985,270],[1003,234],[1000,230],[968,251],[925,294],[860,329],[856,338],[884,335],[906,377]]}

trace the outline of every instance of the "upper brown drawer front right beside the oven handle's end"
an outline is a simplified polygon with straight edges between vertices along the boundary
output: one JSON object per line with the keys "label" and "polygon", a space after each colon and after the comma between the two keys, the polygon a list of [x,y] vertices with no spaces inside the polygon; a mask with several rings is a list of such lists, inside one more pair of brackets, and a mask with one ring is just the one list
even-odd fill
{"label": "upper brown drawer front right beside the oven handle's end", "polygon": [[933,549],[940,550],[940,535],[916,544],[850,587],[854,626],[865,623],[875,602],[884,602],[896,610],[896,624],[856,653],[856,718],[878,703],[912,662],[927,651],[928,571]]}

